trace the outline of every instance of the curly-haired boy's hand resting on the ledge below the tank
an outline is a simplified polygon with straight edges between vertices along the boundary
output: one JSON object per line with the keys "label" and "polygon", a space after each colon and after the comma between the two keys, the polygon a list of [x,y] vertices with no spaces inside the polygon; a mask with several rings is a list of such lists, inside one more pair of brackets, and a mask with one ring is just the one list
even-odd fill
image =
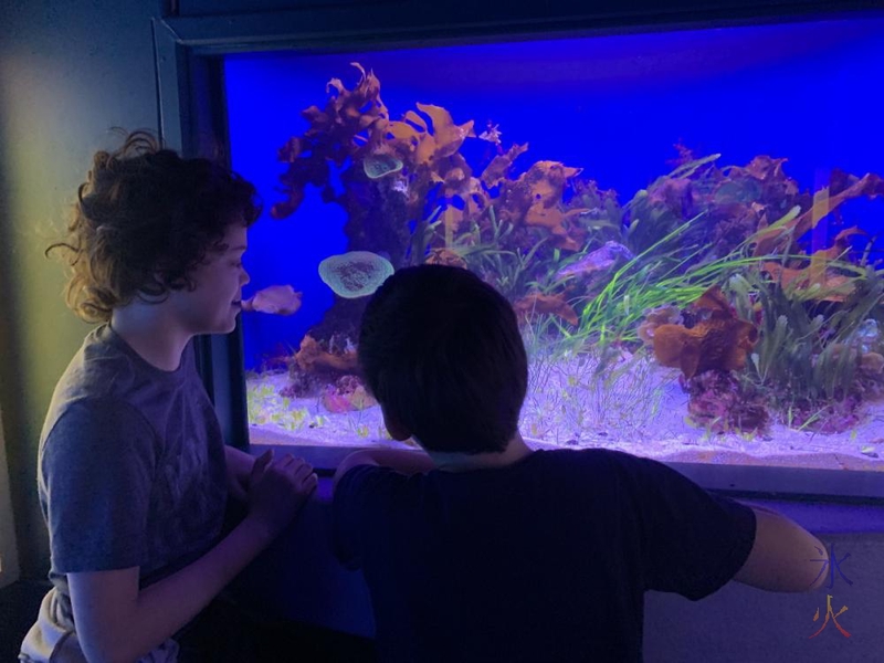
{"label": "curly-haired boy's hand resting on the ledge below the tank", "polygon": [[271,537],[282,532],[316,490],[319,480],[313,466],[292,454],[273,457],[261,454],[249,481],[249,517],[257,520]]}

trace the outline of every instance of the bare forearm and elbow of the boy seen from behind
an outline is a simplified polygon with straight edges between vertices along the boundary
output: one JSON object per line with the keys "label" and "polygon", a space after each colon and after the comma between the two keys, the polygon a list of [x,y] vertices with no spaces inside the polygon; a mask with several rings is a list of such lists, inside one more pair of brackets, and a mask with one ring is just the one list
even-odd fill
{"label": "bare forearm and elbow of the boy seen from behind", "polygon": [[762,506],[755,512],[755,544],[734,580],[769,591],[807,591],[825,579],[825,546],[786,516]]}

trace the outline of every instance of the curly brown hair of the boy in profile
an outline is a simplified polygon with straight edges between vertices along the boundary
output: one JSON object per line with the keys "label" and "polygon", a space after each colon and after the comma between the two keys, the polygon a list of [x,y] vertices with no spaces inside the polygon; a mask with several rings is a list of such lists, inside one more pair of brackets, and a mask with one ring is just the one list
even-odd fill
{"label": "curly brown hair of the boy in profile", "polygon": [[71,267],[67,305],[87,322],[110,319],[136,297],[161,301],[192,290],[190,274],[210,251],[224,250],[230,223],[254,223],[252,183],[208,159],[182,159],[148,131],[98,151],[77,190],[60,253]]}

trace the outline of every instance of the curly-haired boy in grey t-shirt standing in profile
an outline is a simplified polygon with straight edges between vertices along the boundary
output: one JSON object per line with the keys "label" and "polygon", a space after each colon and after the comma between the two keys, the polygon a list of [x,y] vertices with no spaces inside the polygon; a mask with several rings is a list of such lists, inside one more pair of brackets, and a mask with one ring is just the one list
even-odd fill
{"label": "curly-haired boy in grey t-shirt standing in profile", "polygon": [[[301,459],[225,446],[196,370],[193,336],[235,327],[259,211],[251,183],[149,134],[95,155],[67,238],[48,250],[71,266],[71,308],[102,325],[40,440],[53,588],[22,661],[179,660],[173,636],[315,490]],[[224,535],[228,496],[248,515]]]}

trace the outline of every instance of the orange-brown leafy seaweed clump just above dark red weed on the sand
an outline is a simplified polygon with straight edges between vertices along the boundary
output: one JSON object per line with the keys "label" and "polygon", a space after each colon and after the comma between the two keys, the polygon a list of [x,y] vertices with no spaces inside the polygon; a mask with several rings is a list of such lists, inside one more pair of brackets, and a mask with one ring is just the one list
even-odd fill
{"label": "orange-brown leafy seaweed clump just above dark red weed on the sand", "polygon": [[755,325],[736,317],[717,286],[704,293],[692,309],[701,316],[693,327],[656,327],[653,345],[657,361],[681,368],[686,378],[714,369],[741,369],[758,340]]}

